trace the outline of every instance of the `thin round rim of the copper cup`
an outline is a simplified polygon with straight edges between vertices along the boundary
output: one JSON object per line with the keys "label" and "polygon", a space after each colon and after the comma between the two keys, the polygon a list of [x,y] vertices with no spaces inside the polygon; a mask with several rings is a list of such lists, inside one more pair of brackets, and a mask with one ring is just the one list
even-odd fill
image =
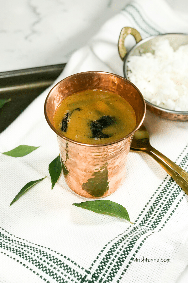
{"label": "thin round rim of the copper cup", "polygon": [[[140,123],[137,125],[136,128],[134,128],[128,135],[124,136],[123,138],[121,139],[118,139],[114,142],[108,142],[108,143],[101,143],[101,144],[90,144],[90,143],[83,143],[83,142],[76,142],[66,136],[63,136],[62,134],[60,134],[60,132],[58,132],[58,130],[55,129],[54,125],[51,124],[49,118],[48,118],[48,115],[46,113],[46,105],[47,105],[47,102],[48,102],[48,97],[50,96],[51,92],[53,92],[54,88],[56,88],[57,85],[60,85],[62,81],[64,80],[67,80],[71,77],[74,77],[75,75],[78,75],[78,74],[91,74],[91,73],[97,73],[97,74],[107,74],[107,75],[113,75],[114,77],[118,77],[122,80],[125,80],[128,84],[132,85],[138,92],[138,94],[140,95],[140,97],[142,98],[142,101],[143,101],[143,106],[144,106],[144,111],[143,111],[143,117],[140,121]],[[73,74],[73,75],[70,75],[66,78],[64,78],[63,80],[60,80],[57,84],[55,84],[55,86],[52,87],[52,89],[50,90],[50,92],[48,93],[46,99],[45,99],[45,103],[44,103],[44,116],[45,116],[45,119],[48,123],[48,125],[50,126],[50,128],[60,137],[62,137],[63,139],[65,139],[66,141],[69,141],[69,142],[73,142],[75,144],[79,144],[79,145],[82,145],[82,146],[88,146],[88,147],[102,147],[102,146],[107,146],[107,145],[111,145],[111,144],[114,144],[114,143],[118,143],[118,142],[121,142],[123,140],[125,140],[126,138],[128,138],[129,136],[133,135],[137,130],[138,128],[142,125],[143,121],[144,121],[144,118],[145,118],[145,114],[146,114],[146,103],[145,103],[145,100],[144,100],[144,97],[142,95],[142,93],[139,91],[139,89],[130,81],[130,80],[127,80],[126,78],[122,77],[122,76],[119,76],[119,75],[116,75],[116,74],[113,74],[113,73],[109,73],[109,72],[102,72],[102,71],[87,71],[87,72],[80,72],[80,73],[76,73],[76,74]]]}

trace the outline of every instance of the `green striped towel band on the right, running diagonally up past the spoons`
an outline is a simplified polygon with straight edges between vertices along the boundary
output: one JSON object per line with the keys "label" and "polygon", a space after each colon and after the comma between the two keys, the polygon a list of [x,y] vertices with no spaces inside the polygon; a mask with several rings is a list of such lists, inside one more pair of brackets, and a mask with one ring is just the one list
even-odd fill
{"label": "green striped towel band on the right, running diagonally up past the spoons", "polygon": [[[188,169],[187,147],[188,146],[185,147],[180,155],[182,156],[184,154],[179,164],[185,170]],[[180,157],[178,159],[180,159]],[[160,231],[165,227],[184,196],[185,193],[183,190],[171,177],[167,176],[139,214],[135,221],[137,226],[129,226],[124,233],[121,233],[110,241],[92,263],[90,270],[94,267],[95,270],[94,273],[93,271],[92,273],[95,282],[112,282],[119,271],[119,267],[124,264],[129,257],[128,264],[122,273],[124,274],[133,262],[133,258],[136,256],[144,241],[154,232]],[[152,201],[153,203],[151,203]],[[144,235],[144,239],[138,244],[137,242]],[[137,248],[135,249],[136,245]],[[103,255],[104,252],[105,256]],[[121,277],[122,275],[119,277],[119,280]]]}

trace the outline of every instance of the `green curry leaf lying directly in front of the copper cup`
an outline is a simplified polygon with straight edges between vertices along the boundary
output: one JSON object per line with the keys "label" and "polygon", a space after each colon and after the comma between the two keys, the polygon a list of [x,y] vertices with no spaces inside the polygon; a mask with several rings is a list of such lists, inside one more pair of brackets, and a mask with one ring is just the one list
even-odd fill
{"label": "green curry leaf lying directly in front of the copper cup", "polygon": [[[127,209],[124,208],[121,204],[114,203],[110,200],[95,200],[84,203],[73,203],[73,205],[76,205],[81,208],[89,209],[93,212],[102,213],[105,215],[117,216],[130,222]],[[133,224],[132,222],[130,223]]]}

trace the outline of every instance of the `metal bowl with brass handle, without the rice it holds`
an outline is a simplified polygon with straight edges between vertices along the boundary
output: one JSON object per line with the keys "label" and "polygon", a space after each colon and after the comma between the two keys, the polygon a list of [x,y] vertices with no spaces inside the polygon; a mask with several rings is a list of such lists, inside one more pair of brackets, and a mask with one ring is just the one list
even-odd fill
{"label": "metal bowl with brass handle, without the rice it holds", "polygon": [[[125,38],[128,34],[134,36],[137,44],[129,51],[126,51],[124,46]],[[180,45],[188,44],[188,35],[181,34],[181,33],[167,33],[161,34],[157,36],[150,36],[146,39],[142,39],[139,32],[131,27],[124,27],[120,33],[119,41],[118,41],[118,51],[121,59],[124,61],[123,64],[123,73],[124,77],[128,79],[128,67],[127,62],[130,56],[136,55],[140,56],[140,51],[142,53],[154,53],[152,47],[156,42],[161,39],[168,39],[170,45],[173,47],[174,50],[178,49]],[[188,111],[175,111],[169,110],[162,107],[159,107],[145,99],[146,109],[153,112],[154,114],[158,114],[162,118],[175,120],[175,121],[187,121],[188,120]]]}

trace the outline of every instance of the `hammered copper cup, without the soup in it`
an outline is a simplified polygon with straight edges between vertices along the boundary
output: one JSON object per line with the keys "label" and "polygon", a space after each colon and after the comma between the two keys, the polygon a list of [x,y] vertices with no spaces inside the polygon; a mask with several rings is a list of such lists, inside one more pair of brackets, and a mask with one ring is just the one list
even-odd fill
{"label": "hammered copper cup, without the soup in it", "polygon": [[[53,125],[58,105],[69,95],[87,89],[117,93],[125,98],[136,114],[136,126],[127,136],[105,144],[85,144],[60,134]],[[83,72],[57,83],[44,104],[45,118],[57,134],[65,181],[70,189],[83,197],[100,198],[118,189],[125,177],[127,156],[133,134],[142,124],[146,106],[144,97],[127,79],[106,72]]]}

